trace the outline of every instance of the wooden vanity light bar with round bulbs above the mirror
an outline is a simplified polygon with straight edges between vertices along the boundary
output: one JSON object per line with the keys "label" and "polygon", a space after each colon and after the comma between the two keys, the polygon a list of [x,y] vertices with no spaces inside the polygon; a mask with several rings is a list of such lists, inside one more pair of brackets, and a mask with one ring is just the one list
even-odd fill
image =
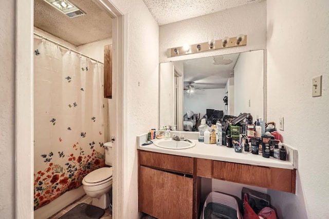
{"label": "wooden vanity light bar with round bulbs above the mirror", "polygon": [[[227,43],[225,44],[226,41]],[[209,42],[205,43],[193,44],[189,46],[190,49],[188,51],[186,51],[186,46],[174,47],[170,49],[170,57],[246,45],[247,35],[241,34],[237,37],[224,37],[223,39],[218,39],[216,41],[210,40]]]}

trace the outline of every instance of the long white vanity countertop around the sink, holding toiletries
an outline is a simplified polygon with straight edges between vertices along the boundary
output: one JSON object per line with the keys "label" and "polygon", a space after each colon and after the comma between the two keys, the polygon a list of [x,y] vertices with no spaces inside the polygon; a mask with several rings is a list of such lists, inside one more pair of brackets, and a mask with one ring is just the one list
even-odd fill
{"label": "long white vanity countertop around the sink, holding toiletries", "polygon": [[[189,156],[197,158],[205,158],[214,161],[225,161],[240,164],[250,164],[265,167],[277,167],[284,169],[294,169],[294,162],[281,161],[270,156],[270,158],[265,158],[262,154],[252,154],[252,153],[237,153],[233,148],[228,148],[226,146],[217,146],[216,144],[205,144],[198,142],[198,140],[193,140],[187,138],[194,142],[196,145],[188,149],[166,149],[155,146],[154,144],[142,146],[141,144],[145,142],[144,135],[137,137],[137,148],[145,151],[153,151],[158,153],[173,154],[179,156]],[[158,140],[152,140],[158,141]]]}

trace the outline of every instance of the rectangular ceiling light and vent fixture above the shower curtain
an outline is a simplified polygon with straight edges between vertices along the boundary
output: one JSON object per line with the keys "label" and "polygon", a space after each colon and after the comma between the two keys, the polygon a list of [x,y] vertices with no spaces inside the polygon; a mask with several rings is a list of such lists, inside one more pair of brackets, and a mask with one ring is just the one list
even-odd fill
{"label": "rectangular ceiling light and vent fixture above the shower curtain", "polygon": [[85,13],[67,0],[44,0],[66,16],[72,18],[84,15]]}

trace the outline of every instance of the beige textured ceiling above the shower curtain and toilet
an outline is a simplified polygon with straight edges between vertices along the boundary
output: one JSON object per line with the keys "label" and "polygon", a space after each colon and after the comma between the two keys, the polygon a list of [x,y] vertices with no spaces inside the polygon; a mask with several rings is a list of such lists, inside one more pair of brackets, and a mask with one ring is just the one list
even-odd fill
{"label": "beige textured ceiling above the shower curtain and toilet", "polygon": [[112,18],[92,0],[70,0],[86,14],[69,18],[43,0],[34,0],[34,26],[75,46],[112,37]]}

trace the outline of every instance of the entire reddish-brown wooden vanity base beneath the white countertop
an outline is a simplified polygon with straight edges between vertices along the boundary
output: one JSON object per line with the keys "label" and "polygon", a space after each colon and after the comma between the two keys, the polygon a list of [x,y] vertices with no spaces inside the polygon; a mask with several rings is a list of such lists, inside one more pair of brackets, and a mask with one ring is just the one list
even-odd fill
{"label": "entire reddish-brown wooden vanity base beneath the white countertop", "polygon": [[159,219],[199,218],[201,177],[295,193],[296,169],[138,150],[138,209]]}

